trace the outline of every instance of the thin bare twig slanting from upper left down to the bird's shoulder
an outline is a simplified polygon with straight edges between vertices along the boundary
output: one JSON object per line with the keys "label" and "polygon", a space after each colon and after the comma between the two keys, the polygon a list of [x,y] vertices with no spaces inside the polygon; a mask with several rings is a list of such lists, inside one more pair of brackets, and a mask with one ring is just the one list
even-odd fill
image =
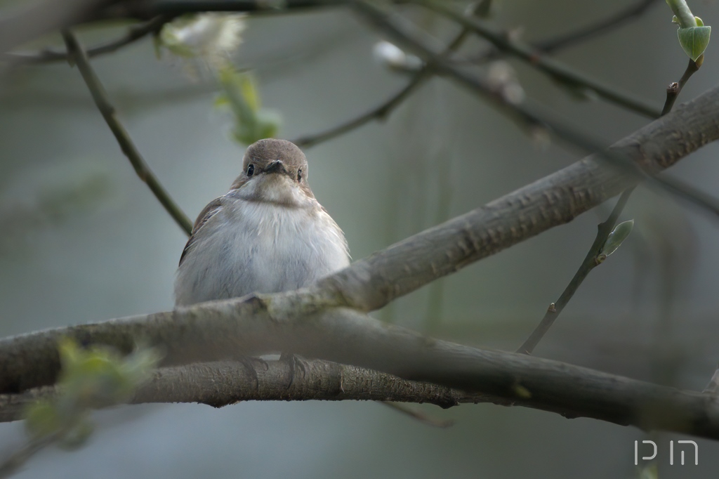
{"label": "thin bare twig slanting from upper left down to the bird's shoulder", "polygon": [[119,119],[117,118],[115,108],[110,104],[107,93],[104,86],[100,82],[100,79],[96,76],[90,62],[88,61],[85,50],[82,45],[78,42],[77,37],[70,32],[70,30],[63,30],[63,38],[65,44],[68,45],[68,55],[71,56],[75,63],[78,65],[78,69],[85,80],[85,83],[92,94],[93,100],[100,110],[102,117],[105,119],[107,126],[110,127],[112,133],[115,135],[117,142],[122,149],[122,152],[127,156],[127,159],[132,164],[132,167],[137,173],[137,176],[147,183],[150,191],[155,194],[155,197],[162,206],[165,206],[165,210],[168,211],[170,216],[173,217],[175,222],[186,232],[188,235],[192,233],[192,222],[186,214],[180,209],[177,203],[170,197],[170,193],[162,186],[160,181],[157,180],[155,173],[152,173],[150,167],[145,162],[145,159],[140,155],[139,150],[135,147],[134,143],[130,139],[129,133],[122,126]]}

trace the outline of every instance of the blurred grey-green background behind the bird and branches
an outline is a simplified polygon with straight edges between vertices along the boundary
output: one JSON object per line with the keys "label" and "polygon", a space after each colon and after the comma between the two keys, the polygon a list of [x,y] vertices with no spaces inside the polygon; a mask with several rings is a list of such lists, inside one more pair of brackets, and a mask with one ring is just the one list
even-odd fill
{"label": "blurred grey-green background behind the bird and branches", "polygon": [[[622,9],[626,1],[500,1],[494,21],[541,40]],[[716,1],[695,1],[716,24]],[[441,38],[453,33],[422,14]],[[664,1],[608,35],[557,58],[660,107],[687,58]],[[81,32],[91,44],[122,27]],[[262,101],[280,111],[280,136],[313,133],[379,104],[406,75],[372,58],[377,34],[350,12],[252,18],[234,57],[253,68]],[[57,39],[51,38],[50,41]],[[465,53],[482,51],[471,42]],[[714,86],[716,45],[679,101]],[[214,81],[145,40],[93,60],[119,116],[160,180],[194,218],[239,174],[232,118],[214,109]],[[578,101],[510,60],[528,96],[613,142],[648,122],[601,101]],[[168,310],[186,237],[135,176],[78,71],[68,65],[6,72],[0,85],[0,334]],[[717,145],[672,168],[719,196]],[[306,149],[310,183],[358,259],[581,158],[541,148],[471,93],[435,78],[386,122]],[[467,345],[514,350],[580,265],[608,214],[597,209],[401,298],[377,317]],[[597,268],[536,355],[702,390],[719,360],[718,224],[682,201],[638,190],[624,214],[636,227]],[[435,429],[374,403],[128,406],[95,414],[81,450],[42,452],[18,478],[632,478],[638,429],[493,405],[448,411]],[[22,444],[22,424],[0,424],[0,453]],[[697,441],[699,465],[659,477],[714,477],[719,445]]]}

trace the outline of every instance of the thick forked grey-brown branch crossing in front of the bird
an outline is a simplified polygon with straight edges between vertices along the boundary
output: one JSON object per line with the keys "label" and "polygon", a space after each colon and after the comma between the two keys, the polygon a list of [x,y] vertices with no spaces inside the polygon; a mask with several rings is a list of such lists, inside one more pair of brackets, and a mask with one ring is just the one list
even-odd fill
{"label": "thick forked grey-brown branch crossing in front of the bird", "polygon": [[[715,88],[613,149],[661,170],[718,138]],[[700,393],[436,341],[334,307],[380,308],[431,280],[569,222],[633,183],[635,177],[589,157],[360,260],[308,289],[6,338],[0,341],[0,391],[18,393],[54,383],[58,339],[70,336],[81,344],[103,343],[123,351],[132,350],[136,342],[157,345],[165,350],[165,365],[294,352],[567,416],[719,437],[718,406]]]}

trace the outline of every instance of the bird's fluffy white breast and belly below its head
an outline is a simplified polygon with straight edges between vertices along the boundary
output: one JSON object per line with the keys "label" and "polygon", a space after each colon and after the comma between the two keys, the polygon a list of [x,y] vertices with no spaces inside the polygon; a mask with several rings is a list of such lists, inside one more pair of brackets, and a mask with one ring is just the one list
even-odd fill
{"label": "bird's fluffy white breast and belly below its head", "polygon": [[178,306],[308,286],[349,265],[347,242],[329,214],[266,201],[221,199],[175,280]]}

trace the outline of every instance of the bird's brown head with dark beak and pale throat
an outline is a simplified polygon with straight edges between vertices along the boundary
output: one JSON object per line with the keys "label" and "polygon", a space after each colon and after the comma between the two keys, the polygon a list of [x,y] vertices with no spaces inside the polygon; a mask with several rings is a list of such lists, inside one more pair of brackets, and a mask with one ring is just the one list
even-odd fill
{"label": "bird's brown head with dark beak and pale throat", "polygon": [[[287,140],[267,138],[247,147],[242,160],[242,174],[232,183],[232,189],[245,187],[243,189],[251,195],[247,199],[256,201],[293,202],[290,201],[293,191],[301,191],[313,199],[307,183],[308,173],[307,158],[297,145]],[[252,188],[247,188],[251,185]]]}

